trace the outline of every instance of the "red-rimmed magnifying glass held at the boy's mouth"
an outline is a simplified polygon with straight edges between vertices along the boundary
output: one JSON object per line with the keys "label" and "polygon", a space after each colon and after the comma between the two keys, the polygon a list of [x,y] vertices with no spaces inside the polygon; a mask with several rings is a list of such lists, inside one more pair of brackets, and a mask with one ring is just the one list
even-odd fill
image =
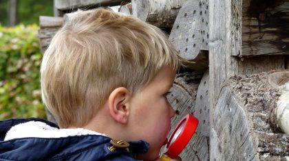
{"label": "red-rimmed magnifying glass held at the boy's mouth", "polygon": [[169,160],[169,158],[178,157],[193,137],[193,134],[195,134],[198,123],[199,121],[195,116],[186,114],[178,126],[173,130],[173,133],[169,137],[168,143],[164,148],[164,153],[160,158],[162,160]]}

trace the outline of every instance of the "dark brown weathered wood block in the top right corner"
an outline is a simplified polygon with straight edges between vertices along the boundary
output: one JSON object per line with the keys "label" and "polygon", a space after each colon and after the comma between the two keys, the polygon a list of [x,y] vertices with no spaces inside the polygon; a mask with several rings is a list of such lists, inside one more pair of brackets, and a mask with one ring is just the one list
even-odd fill
{"label": "dark brown weathered wood block in the top right corner", "polygon": [[243,0],[242,5],[243,52],[239,56],[289,54],[289,0]]}

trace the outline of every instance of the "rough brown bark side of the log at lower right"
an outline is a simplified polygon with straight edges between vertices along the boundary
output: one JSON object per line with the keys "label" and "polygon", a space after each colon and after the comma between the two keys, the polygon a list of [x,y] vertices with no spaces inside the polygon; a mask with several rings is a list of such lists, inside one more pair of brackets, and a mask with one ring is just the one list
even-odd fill
{"label": "rough brown bark side of the log at lower right", "polygon": [[[261,160],[289,156],[289,135],[279,131],[275,119],[272,117],[275,115],[274,111],[280,96],[279,86],[289,81],[288,75],[288,71],[237,75],[227,79],[224,84],[224,88],[228,88],[239,108],[244,110],[246,116],[243,116],[242,119],[246,119],[247,124],[240,124],[242,127],[247,126],[250,129],[249,136],[253,140],[256,156]],[[220,94],[217,102],[221,99],[222,95]],[[228,108],[231,108],[230,103],[228,103]],[[215,114],[218,111],[216,106]],[[219,115],[224,116],[224,114]],[[220,136],[217,138],[220,140]],[[228,143],[228,140],[223,140],[223,142]],[[230,144],[235,143],[236,140],[230,140]],[[244,153],[244,155],[250,157],[248,153]]]}

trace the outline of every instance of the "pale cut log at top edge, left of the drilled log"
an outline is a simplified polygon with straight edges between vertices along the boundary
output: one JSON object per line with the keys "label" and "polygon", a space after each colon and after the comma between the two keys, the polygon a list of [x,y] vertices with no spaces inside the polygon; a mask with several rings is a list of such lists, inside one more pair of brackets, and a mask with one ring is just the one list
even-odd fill
{"label": "pale cut log at top edge, left of the drilled log", "polygon": [[133,16],[157,27],[173,27],[176,16],[186,0],[132,0]]}

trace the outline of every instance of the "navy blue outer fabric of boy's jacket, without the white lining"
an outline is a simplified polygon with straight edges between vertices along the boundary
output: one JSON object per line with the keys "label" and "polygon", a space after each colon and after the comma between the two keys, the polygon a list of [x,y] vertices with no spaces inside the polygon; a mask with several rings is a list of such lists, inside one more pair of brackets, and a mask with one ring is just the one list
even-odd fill
{"label": "navy blue outer fabric of boy's jacket, without the white lining", "polygon": [[129,149],[116,148],[110,151],[111,138],[100,135],[15,138],[3,141],[13,125],[27,121],[41,121],[52,127],[58,127],[42,119],[0,121],[0,160],[135,160],[133,156],[146,153],[149,147],[148,143],[140,140],[130,142]]}

